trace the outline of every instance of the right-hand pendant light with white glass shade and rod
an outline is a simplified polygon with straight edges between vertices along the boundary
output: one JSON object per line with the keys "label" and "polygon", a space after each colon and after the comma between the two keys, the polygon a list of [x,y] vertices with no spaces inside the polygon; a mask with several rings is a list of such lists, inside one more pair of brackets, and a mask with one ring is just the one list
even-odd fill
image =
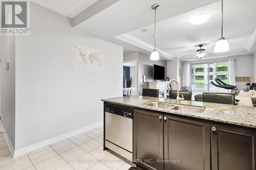
{"label": "right-hand pendant light with white glass shade and rod", "polygon": [[221,0],[221,38],[217,41],[214,47],[214,52],[221,53],[229,51],[227,40],[223,37],[223,0]]}

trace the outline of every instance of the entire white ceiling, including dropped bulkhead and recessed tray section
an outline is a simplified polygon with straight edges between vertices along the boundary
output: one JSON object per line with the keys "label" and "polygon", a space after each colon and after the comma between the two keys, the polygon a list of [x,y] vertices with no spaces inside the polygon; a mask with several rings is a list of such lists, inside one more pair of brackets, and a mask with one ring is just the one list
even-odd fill
{"label": "entire white ceiling, including dropped bulkhead and recessed tray section", "polygon": [[[73,18],[74,29],[122,45],[127,53],[151,54],[154,48],[153,4],[160,5],[157,50],[162,59],[193,53],[199,44],[203,44],[206,51],[213,50],[221,36],[219,0],[109,0],[109,4],[105,0],[31,1]],[[197,26],[189,23],[192,16],[203,12],[210,13],[208,21]],[[256,50],[255,20],[256,0],[224,0],[224,37],[230,51],[216,57],[253,53]],[[142,32],[142,29],[148,31]]]}

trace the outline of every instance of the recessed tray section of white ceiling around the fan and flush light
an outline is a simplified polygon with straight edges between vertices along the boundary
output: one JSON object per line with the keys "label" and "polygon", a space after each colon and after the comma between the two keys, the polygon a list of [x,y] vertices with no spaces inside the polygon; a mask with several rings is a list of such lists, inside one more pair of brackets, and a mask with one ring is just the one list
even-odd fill
{"label": "recessed tray section of white ceiling around the fan and flush light", "polygon": [[[243,8],[241,8],[243,7]],[[160,12],[160,8],[157,12]],[[209,13],[210,19],[202,25],[193,25],[189,19],[200,13]],[[229,54],[247,52],[248,43],[256,29],[255,0],[225,0],[224,1],[224,37],[228,40]],[[147,32],[141,30],[146,29]],[[143,43],[154,45],[154,25],[118,36],[119,39],[134,43],[136,39]],[[125,37],[125,38],[123,38]],[[130,40],[127,37],[130,37]],[[157,22],[157,48],[169,56],[183,56],[195,52],[199,44],[209,51],[221,37],[221,2],[216,2],[178,16]],[[218,55],[218,54],[217,54]],[[223,54],[221,54],[223,55]],[[194,57],[194,56],[193,56]],[[209,56],[210,57],[210,56]]]}

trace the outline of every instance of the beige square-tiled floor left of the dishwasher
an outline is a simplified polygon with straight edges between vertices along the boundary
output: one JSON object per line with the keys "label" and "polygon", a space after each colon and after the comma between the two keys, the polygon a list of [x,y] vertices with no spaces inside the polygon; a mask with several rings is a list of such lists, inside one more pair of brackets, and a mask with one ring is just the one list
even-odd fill
{"label": "beige square-tiled floor left of the dishwasher", "polygon": [[103,151],[102,143],[101,126],[12,158],[5,138],[0,134],[0,170],[126,170],[135,165],[112,151]]}

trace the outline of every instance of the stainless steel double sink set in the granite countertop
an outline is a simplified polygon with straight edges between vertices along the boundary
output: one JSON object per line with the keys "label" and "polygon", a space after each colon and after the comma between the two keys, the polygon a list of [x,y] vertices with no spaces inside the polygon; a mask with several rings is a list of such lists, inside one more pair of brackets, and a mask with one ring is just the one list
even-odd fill
{"label": "stainless steel double sink set in the granite countertop", "polygon": [[193,113],[202,113],[205,108],[193,107],[193,106],[183,106],[183,105],[173,105],[169,103],[161,103],[161,102],[151,102],[144,104],[146,106],[159,107],[169,110],[179,110],[179,111],[188,111]]}

